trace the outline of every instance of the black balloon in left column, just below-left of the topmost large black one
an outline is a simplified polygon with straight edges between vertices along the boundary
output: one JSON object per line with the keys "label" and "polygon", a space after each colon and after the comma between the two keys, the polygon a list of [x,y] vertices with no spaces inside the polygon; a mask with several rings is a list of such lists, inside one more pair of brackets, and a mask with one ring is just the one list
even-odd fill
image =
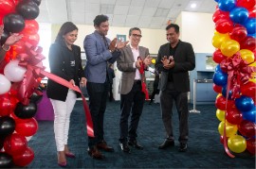
{"label": "black balloon in left column, just below-left of the topmost large black one", "polygon": [[4,17],[4,26],[11,33],[19,33],[24,29],[25,21],[21,15],[10,13]]}

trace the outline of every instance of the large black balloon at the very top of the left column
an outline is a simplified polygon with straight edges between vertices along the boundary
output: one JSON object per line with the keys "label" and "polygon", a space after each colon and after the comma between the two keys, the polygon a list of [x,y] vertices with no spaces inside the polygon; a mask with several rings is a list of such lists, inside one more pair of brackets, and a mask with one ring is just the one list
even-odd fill
{"label": "large black balloon at the very top of the left column", "polygon": [[21,1],[16,11],[27,20],[34,20],[39,15],[39,7],[33,1]]}

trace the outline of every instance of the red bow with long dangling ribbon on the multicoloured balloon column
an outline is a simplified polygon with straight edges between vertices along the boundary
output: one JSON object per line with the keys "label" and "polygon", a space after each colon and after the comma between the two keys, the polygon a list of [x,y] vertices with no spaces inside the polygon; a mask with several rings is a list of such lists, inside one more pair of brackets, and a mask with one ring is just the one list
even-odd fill
{"label": "red bow with long dangling ribbon on the multicoloured balloon column", "polygon": [[[228,73],[228,84],[226,93],[226,109],[225,114],[227,115],[228,98],[229,91],[231,90],[231,99],[240,97],[240,86],[248,82],[251,73],[256,72],[255,67],[248,66],[247,61],[243,60],[239,54],[235,54],[231,58],[224,59],[220,63],[220,67],[224,72]],[[235,156],[229,152],[227,144],[227,134],[226,134],[226,115],[224,119],[224,147],[226,153],[230,158]]]}

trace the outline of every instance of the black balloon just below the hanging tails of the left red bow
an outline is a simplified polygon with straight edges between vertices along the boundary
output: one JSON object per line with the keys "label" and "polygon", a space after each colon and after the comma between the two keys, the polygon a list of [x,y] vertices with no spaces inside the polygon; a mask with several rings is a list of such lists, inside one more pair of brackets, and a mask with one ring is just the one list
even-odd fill
{"label": "black balloon just below the hanging tails of the left red bow", "polygon": [[19,102],[16,105],[14,114],[21,119],[29,119],[35,115],[36,111],[37,111],[37,106],[35,103],[30,102],[26,106],[26,105],[23,105],[21,102]]}

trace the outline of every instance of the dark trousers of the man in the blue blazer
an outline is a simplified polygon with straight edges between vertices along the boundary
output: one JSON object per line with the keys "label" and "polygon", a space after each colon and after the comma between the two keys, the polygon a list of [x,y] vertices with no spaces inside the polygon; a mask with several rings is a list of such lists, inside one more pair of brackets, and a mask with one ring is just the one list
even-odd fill
{"label": "dark trousers of the man in the blue blazer", "polygon": [[106,101],[109,91],[109,82],[92,83],[87,82],[87,92],[89,95],[89,109],[92,116],[94,135],[88,137],[88,146],[93,147],[95,144],[104,140],[104,112],[106,110]]}

